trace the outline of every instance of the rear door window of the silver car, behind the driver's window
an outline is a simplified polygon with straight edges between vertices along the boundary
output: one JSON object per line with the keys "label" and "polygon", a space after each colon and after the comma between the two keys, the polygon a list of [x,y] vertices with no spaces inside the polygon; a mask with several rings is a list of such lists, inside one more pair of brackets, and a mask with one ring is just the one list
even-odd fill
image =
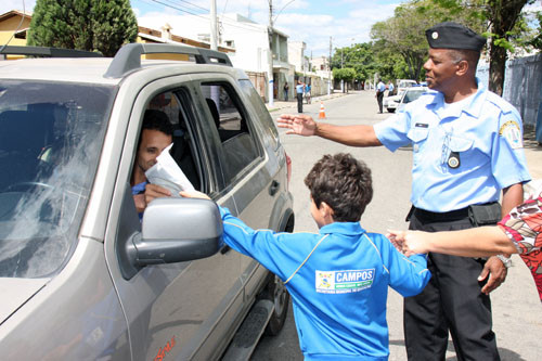
{"label": "rear door window of the silver car, behind the driver's window", "polygon": [[257,140],[233,87],[225,82],[206,82],[201,87],[222,144],[225,181],[233,182],[260,156]]}

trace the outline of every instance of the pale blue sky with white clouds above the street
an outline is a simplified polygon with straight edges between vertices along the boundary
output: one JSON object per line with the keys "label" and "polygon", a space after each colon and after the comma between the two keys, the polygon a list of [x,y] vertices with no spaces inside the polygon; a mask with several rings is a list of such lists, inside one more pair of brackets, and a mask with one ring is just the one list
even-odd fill
{"label": "pale blue sky with white clouds above the street", "polygon": [[[370,41],[371,26],[393,15],[405,0],[216,0],[217,14],[238,13],[256,23],[269,23],[269,2],[273,7],[273,25],[289,36],[305,41],[306,54],[327,55],[330,37],[333,48]],[[1,0],[0,13],[17,9],[31,11],[36,0]],[[131,0],[137,17],[189,15],[208,22],[210,0]],[[531,8],[542,10],[542,0]],[[210,27],[210,25],[209,25]],[[159,29],[159,27],[156,27]],[[172,29],[176,35],[182,36]]]}

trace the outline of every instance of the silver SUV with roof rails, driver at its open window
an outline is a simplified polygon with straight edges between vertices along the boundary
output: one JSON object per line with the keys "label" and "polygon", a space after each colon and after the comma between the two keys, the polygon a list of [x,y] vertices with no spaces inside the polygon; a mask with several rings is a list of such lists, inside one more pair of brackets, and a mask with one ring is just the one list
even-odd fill
{"label": "silver SUV with roof rails, driver at its open window", "polygon": [[292,231],[287,156],[248,77],[176,46],[10,51],[53,57],[0,62],[0,360],[246,359],[278,333],[288,295],[219,248],[215,203],[157,198],[140,221],[130,188],[143,114],[160,109],[197,190]]}

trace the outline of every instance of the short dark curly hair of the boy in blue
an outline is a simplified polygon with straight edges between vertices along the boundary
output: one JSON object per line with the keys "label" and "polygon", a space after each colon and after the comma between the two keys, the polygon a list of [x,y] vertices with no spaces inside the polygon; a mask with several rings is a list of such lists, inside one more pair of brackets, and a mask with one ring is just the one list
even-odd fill
{"label": "short dark curly hair of the boy in blue", "polygon": [[325,202],[336,222],[358,222],[373,198],[371,169],[347,153],[326,154],[305,178],[317,207]]}

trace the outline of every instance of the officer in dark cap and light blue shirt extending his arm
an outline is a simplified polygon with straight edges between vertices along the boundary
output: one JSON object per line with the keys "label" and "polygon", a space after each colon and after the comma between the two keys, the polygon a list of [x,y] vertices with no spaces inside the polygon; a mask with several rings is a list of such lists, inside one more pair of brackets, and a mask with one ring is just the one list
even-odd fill
{"label": "officer in dark cap and light blue shirt extending his arm", "polygon": [[[352,146],[413,145],[410,229],[443,231],[495,223],[522,201],[530,180],[518,112],[476,78],[486,42],[447,22],[426,31],[424,64],[430,89],[405,112],[374,126],[332,126],[283,115],[287,133],[319,136]],[[502,209],[496,203],[502,190]],[[430,253],[433,278],[404,300],[409,360],[444,360],[448,333],[459,360],[499,360],[489,293],[504,281],[509,259]]]}

